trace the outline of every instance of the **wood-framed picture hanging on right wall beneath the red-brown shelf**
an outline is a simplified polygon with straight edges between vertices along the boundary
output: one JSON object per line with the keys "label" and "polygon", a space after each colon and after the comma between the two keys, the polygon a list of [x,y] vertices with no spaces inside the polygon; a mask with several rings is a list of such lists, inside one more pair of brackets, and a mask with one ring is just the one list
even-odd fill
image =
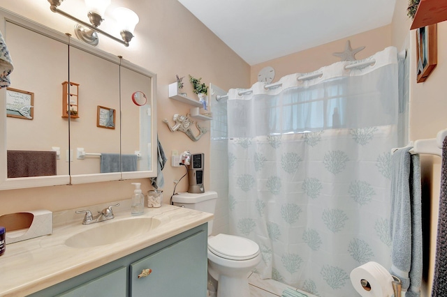
{"label": "wood-framed picture hanging on right wall beneath the red-brown shelf", "polygon": [[425,82],[438,63],[437,24],[416,29],[417,82]]}

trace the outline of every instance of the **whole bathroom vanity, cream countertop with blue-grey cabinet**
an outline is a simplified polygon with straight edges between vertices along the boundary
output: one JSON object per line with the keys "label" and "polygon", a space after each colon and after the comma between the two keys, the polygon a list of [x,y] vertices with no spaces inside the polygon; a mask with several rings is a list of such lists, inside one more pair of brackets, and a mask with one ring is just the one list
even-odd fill
{"label": "whole bathroom vanity, cream countertop with blue-grey cabinet", "polygon": [[[120,203],[115,219],[83,225],[73,210],[55,213],[52,235],[6,245],[0,296],[205,297],[207,222],[213,215],[163,204],[132,217],[129,201]],[[121,223],[131,220],[147,229],[127,236]],[[109,227],[117,232],[110,234]],[[143,276],[145,269],[152,273]]]}

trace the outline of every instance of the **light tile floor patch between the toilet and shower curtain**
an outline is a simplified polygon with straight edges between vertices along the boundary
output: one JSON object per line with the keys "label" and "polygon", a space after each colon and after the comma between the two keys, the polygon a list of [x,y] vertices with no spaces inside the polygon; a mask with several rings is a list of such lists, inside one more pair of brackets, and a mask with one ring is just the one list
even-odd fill
{"label": "light tile floor patch between the toilet and shower curtain", "polygon": [[[263,280],[256,273],[251,273],[249,276],[250,284],[250,297],[275,297],[281,296],[282,291],[286,288],[292,288],[287,284],[282,284],[276,280]],[[298,290],[300,291],[300,290]],[[306,294],[308,297],[316,297],[315,295],[300,291]]]}

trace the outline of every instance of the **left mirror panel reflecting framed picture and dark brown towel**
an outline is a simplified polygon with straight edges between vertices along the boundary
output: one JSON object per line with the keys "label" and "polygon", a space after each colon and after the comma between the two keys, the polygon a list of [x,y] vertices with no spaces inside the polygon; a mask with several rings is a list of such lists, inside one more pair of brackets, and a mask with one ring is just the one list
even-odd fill
{"label": "left mirror panel reflecting framed picture and dark brown towel", "polygon": [[14,65],[6,91],[7,177],[68,175],[68,124],[59,99],[67,45],[10,22],[6,33]]}

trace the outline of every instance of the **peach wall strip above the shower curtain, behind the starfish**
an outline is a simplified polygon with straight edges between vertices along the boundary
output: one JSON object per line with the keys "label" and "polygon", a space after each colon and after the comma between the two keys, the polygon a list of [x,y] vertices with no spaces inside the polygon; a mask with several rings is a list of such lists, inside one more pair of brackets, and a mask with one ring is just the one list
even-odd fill
{"label": "peach wall strip above the shower curtain, behind the starfish", "polygon": [[[335,40],[332,43],[325,43],[309,50],[289,54],[278,59],[270,60],[251,66],[250,82],[254,84],[258,81],[259,70],[265,66],[274,68],[273,82],[277,82],[284,75],[292,73],[309,73],[323,66],[340,61],[338,56],[334,56],[334,52],[343,52],[346,40],[351,40],[351,47],[356,49],[365,46],[356,54],[356,59],[365,59],[376,52],[383,50],[391,44],[391,27],[382,26],[380,28],[366,31],[349,38]],[[243,86],[240,86],[243,88]]]}

